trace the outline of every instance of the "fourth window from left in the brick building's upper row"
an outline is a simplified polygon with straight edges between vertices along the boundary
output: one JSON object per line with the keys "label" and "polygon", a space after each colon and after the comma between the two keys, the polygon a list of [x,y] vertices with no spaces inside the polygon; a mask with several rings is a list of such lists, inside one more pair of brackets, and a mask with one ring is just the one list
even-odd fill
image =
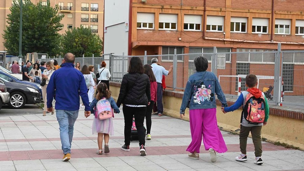
{"label": "fourth window from left in the brick building's upper row", "polygon": [[207,31],[223,32],[224,17],[222,16],[207,16]]}

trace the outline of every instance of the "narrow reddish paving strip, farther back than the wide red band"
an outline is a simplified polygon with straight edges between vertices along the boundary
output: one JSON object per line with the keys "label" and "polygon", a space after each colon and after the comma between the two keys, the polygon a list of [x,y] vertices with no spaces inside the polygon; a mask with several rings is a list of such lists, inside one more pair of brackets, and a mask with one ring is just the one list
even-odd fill
{"label": "narrow reddish paving strip, farther back than the wide red band", "polygon": [[[223,137],[234,137],[238,135],[223,134]],[[191,138],[191,135],[154,135],[153,138]],[[74,137],[73,140],[96,140],[97,137]],[[111,137],[111,139],[124,139],[124,136]],[[60,141],[60,138],[38,138],[38,139],[0,139],[3,142],[33,142],[33,141]]]}

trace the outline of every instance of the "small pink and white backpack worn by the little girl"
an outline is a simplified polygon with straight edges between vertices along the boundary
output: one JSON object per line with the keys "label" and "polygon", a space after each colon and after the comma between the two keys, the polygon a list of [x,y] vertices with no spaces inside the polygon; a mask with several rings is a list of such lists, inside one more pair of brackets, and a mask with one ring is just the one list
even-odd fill
{"label": "small pink and white backpack worn by the little girl", "polygon": [[97,102],[95,108],[95,118],[98,118],[99,120],[104,120],[112,118],[113,116],[113,110],[109,101],[103,98]]}

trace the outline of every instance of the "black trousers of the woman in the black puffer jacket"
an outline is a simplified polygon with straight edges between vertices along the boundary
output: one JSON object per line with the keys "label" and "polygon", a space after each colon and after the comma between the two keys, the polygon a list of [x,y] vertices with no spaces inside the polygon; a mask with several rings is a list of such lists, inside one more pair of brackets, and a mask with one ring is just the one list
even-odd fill
{"label": "black trousers of the woman in the black puffer jacket", "polygon": [[124,144],[130,145],[131,141],[131,128],[133,124],[133,116],[135,119],[135,126],[137,128],[139,146],[145,145],[145,129],[143,127],[143,122],[145,120],[147,107],[129,107],[123,106],[124,113]]}

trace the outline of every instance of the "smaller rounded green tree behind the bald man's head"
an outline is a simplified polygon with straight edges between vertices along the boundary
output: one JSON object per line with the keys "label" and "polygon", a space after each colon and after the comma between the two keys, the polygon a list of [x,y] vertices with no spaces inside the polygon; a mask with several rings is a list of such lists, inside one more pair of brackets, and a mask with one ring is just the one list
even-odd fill
{"label": "smaller rounded green tree behind the bald man's head", "polygon": [[92,33],[90,28],[73,28],[63,34],[61,40],[63,52],[71,52],[76,57],[85,56],[95,57],[100,56],[102,52],[102,40],[98,34]]}

